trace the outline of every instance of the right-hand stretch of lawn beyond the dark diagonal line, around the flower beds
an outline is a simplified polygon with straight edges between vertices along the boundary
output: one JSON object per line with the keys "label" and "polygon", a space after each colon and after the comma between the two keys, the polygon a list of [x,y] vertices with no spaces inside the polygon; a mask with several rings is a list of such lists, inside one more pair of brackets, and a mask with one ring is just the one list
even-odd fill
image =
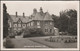
{"label": "right-hand stretch of lawn beyond the dark diagonal line, around the flower beds", "polygon": [[[47,37],[46,37],[47,38]],[[77,43],[59,43],[59,42],[48,42],[43,37],[29,38],[31,41],[44,44],[50,48],[77,48]]]}

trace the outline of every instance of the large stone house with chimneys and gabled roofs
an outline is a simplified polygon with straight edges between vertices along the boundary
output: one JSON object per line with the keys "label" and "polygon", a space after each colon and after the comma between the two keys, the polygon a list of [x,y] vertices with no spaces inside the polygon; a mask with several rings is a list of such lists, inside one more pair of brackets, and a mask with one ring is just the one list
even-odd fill
{"label": "large stone house with chimneys and gabled roofs", "polygon": [[45,34],[54,34],[54,21],[49,14],[49,12],[43,12],[43,9],[40,8],[40,11],[37,12],[37,9],[33,9],[33,13],[30,16],[19,16],[16,12],[16,15],[10,15],[9,18],[10,29],[13,32],[19,32],[25,28],[40,28]]}

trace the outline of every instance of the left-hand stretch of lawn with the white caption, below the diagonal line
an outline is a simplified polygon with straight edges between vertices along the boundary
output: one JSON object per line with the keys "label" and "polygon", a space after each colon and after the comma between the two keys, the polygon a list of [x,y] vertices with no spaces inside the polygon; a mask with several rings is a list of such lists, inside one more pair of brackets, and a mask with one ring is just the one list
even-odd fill
{"label": "left-hand stretch of lawn with the white caption, below the diagonal line", "polygon": [[29,40],[28,38],[19,38],[19,39],[11,39],[13,44],[15,45],[15,48],[47,48],[47,46],[33,42]]}

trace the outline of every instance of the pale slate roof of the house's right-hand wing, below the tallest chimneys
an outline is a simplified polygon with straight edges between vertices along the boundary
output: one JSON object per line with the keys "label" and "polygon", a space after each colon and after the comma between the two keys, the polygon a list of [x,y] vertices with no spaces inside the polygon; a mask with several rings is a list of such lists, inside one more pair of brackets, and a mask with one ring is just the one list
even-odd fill
{"label": "pale slate roof of the house's right-hand wing, below the tallest chimneys", "polygon": [[32,20],[51,20],[53,21],[53,19],[51,18],[51,15],[46,12],[43,13],[42,15],[40,14],[40,12],[37,12],[34,17],[32,17]]}

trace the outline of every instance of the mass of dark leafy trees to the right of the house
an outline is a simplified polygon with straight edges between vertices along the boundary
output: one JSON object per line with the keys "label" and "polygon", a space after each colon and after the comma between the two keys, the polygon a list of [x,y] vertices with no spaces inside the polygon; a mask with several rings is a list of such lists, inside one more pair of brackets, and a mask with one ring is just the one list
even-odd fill
{"label": "mass of dark leafy trees to the right of the house", "polygon": [[61,32],[77,35],[77,11],[73,9],[60,12],[60,16],[52,15],[54,26]]}

